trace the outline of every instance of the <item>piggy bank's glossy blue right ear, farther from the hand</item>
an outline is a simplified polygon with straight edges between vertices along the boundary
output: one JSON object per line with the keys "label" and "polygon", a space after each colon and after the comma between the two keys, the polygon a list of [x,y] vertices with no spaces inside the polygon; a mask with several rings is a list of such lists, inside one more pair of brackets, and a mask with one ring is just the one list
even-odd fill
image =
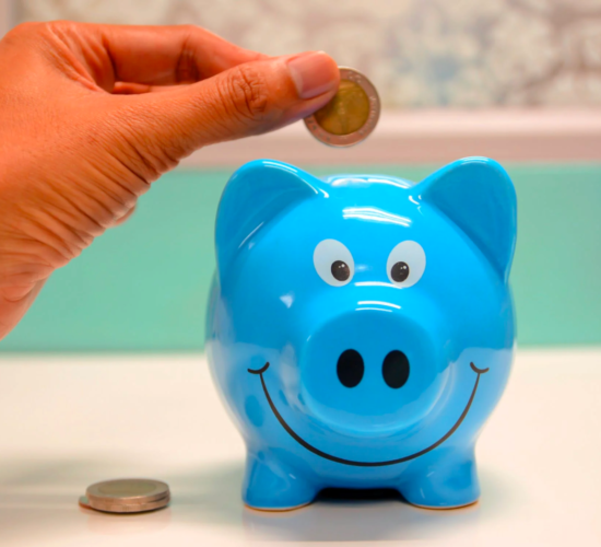
{"label": "piggy bank's glossy blue right ear, farther from the hand", "polygon": [[420,184],[437,207],[480,247],[507,281],[517,234],[517,202],[506,171],[487,158],[458,160]]}

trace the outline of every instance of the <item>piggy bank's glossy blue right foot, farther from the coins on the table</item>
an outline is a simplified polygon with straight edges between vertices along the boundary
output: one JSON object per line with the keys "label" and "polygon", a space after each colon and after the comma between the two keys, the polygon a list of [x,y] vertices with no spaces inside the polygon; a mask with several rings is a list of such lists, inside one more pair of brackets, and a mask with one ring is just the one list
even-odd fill
{"label": "piggy bank's glossy blue right foot, farther from the coins on the table", "polygon": [[[433,454],[434,455],[434,454]],[[453,509],[470,505],[480,497],[473,449],[447,450],[426,465],[414,465],[398,490],[413,505]]]}

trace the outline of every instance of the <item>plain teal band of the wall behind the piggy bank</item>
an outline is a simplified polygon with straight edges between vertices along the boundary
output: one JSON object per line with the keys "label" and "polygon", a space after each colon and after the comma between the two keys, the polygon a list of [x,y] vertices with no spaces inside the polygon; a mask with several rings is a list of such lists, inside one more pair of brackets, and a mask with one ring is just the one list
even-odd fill
{"label": "plain teal band of the wall behind the piggy bank", "polygon": [[[518,194],[518,341],[601,344],[601,164],[506,165]],[[363,171],[420,181],[436,166]],[[57,271],[0,351],[202,349],[213,222],[232,170],[178,170],[135,214]]]}

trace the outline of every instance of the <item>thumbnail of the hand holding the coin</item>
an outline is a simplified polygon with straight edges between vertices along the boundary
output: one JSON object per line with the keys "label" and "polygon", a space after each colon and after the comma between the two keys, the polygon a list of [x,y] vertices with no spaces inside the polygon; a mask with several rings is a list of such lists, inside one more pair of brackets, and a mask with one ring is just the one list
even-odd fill
{"label": "thumbnail of the hand holding the coin", "polygon": [[309,51],[288,59],[290,75],[300,98],[321,95],[338,85],[338,68],[323,51]]}

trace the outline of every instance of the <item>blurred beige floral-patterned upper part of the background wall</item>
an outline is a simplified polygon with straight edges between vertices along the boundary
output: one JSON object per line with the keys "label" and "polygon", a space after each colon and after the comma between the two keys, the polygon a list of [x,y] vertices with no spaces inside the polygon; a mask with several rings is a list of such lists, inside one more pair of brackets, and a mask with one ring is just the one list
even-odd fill
{"label": "blurred beige floral-patterned upper part of the background wall", "polygon": [[397,107],[601,105],[601,0],[17,0],[17,19],[202,25],[323,49]]}

